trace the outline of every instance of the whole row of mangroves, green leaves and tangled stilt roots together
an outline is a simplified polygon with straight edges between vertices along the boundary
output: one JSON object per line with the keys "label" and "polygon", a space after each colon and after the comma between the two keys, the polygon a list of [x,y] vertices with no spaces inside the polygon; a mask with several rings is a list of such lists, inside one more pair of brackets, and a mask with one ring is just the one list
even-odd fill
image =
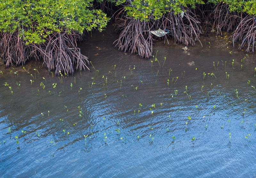
{"label": "whole row of mangroves, green leaves and tangled stilt roots together", "polygon": [[[6,66],[42,60],[49,70],[68,74],[90,70],[77,42],[93,29],[115,21],[114,47],[142,58],[152,57],[154,40],[173,38],[200,43],[209,31],[232,34],[233,44],[256,49],[255,0],[1,0],[0,53]],[[163,29],[166,35],[150,31]]]}

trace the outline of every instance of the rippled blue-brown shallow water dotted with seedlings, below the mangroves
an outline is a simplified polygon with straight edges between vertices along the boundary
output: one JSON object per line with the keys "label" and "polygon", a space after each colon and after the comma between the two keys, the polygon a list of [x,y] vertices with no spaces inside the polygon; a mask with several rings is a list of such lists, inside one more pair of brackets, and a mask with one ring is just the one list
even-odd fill
{"label": "rippled blue-brown shallow water dotted with seedlings, below the mangroves", "polygon": [[[151,67],[150,60],[114,49],[116,35],[108,28],[81,44],[99,70],[98,77],[92,66],[92,72],[64,76],[62,83],[39,70],[37,62],[25,65],[36,73],[35,79],[22,67],[4,69],[1,177],[256,177],[256,91],[251,87],[256,87],[255,55],[246,57],[241,70],[245,53],[230,54],[230,44],[217,38],[202,37],[204,48],[197,44],[187,52],[182,45],[156,41],[154,54],[158,50],[161,67],[157,61]],[[227,61],[225,69],[221,60]],[[192,61],[195,65],[188,65]],[[129,65],[135,65],[132,73]],[[207,75],[212,72],[217,79]],[[108,81],[104,86],[102,75]],[[13,94],[4,82],[12,86]],[[183,93],[185,86],[188,95]]]}

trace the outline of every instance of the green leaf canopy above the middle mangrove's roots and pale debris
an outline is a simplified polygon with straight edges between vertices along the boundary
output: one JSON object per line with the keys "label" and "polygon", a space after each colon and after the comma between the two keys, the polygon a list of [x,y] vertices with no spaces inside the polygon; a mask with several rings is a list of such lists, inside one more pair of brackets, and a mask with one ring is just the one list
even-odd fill
{"label": "green leaf canopy above the middle mangrove's roots and pale debris", "polygon": [[149,16],[160,19],[165,13],[182,13],[182,7],[195,8],[196,4],[204,4],[202,0],[133,0],[126,6],[127,16],[134,19],[147,20]]}

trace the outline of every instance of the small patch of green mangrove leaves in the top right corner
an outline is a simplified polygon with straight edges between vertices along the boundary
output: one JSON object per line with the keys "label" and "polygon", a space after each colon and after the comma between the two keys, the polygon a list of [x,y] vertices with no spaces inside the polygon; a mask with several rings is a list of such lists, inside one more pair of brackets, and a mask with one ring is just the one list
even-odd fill
{"label": "small patch of green mangrove leaves in the top right corner", "polygon": [[230,12],[245,12],[249,15],[256,15],[256,1],[255,0],[208,0],[210,3],[225,3],[228,4]]}

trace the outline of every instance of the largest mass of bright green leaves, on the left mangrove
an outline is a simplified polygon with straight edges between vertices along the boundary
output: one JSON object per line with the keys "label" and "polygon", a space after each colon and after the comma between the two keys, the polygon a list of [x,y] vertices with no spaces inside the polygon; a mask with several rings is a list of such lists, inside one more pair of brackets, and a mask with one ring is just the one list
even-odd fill
{"label": "largest mass of bright green leaves, on the left mangrove", "polygon": [[53,32],[102,31],[109,18],[90,10],[93,0],[0,0],[0,32],[19,32],[21,39],[42,43]]}

